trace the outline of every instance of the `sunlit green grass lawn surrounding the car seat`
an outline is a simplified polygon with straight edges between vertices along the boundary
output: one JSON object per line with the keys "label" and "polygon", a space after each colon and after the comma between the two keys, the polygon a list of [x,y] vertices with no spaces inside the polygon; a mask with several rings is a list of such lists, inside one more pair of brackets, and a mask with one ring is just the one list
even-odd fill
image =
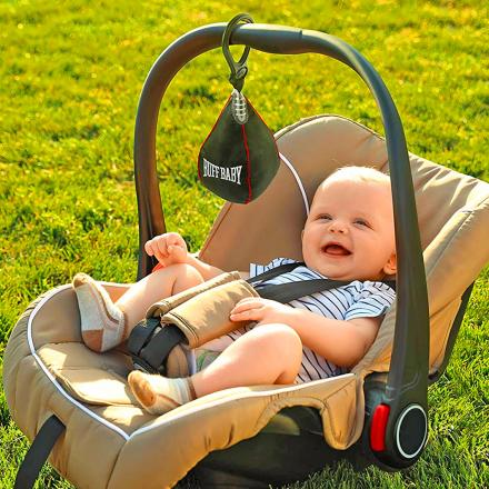
{"label": "sunlit green grass lawn surrounding the car seat", "polygon": [[[139,93],[159,53],[184,32],[239,10],[257,21],[322,30],[360,50],[401,114],[409,150],[489,180],[488,11],[478,0],[0,3],[0,357],[27,305],[84,270],[136,277],[132,134]],[[378,132],[358,77],[318,56],[252,52],[246,93],[277,130],[333,112]],[[219,51],[190,62],[160,111],[158,171],[167,226],[193,250],[221,201],[197,184],[196,156],[229,94]],[[450,366],[430,388],[430,441],[412,468],[348,466],[295,488],[489,487],[488,270],[476,282]],[[27,440],[0,390],[0,487],[12,487]],[[44,467],[39,488],[68,488]]]}

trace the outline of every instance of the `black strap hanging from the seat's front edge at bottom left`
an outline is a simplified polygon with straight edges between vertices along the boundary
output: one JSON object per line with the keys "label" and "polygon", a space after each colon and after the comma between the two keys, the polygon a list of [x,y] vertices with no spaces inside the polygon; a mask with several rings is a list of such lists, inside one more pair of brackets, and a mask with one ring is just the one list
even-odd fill
{"label": "black strap hanging from the seat's front edge at bottom left", "polygon": [[44,421],[17,472],[13,489],[32,488],[64,428],[64,425],[54,415]]}

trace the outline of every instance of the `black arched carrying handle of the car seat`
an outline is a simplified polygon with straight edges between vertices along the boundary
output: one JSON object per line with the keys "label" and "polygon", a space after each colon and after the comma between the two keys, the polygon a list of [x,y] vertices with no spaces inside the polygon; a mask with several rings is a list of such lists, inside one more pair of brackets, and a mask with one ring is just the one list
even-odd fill
{"label": "black arched carrying handle of the car seat", "polygon": [[[153,262],[144,253],[148,239],[166,231],[156,169],[156,133],[166,89],[178,71],[193,58],[221,47],[227,23],[194,29],[171,43],[157,59],[144,81],[134,131],[134,173],[139,211],[138,279],[150,273]],[[380,110],[392,182],[396,246],[398,255],[397,316],[392,361],[381,403],[389,407],[385,423],[387,463],[403,466],[415,457],[397,443],[406,412],[427,412],[429,316],[425,265],[409,156],[399,113],[373,67],[348,43],[323,32],[297,28],[246,23],[234,28],[230,44],[242,44],[268,53],[320,53],[353,69],[365,81]],[[164,147],[163,147],[164,150]],[[412,409],[415,407],[415,409]],[[407,411],[409,409],[409,411]],[[426,416],[425,416],[426,418]],[[426,431],[426,427],[425,427]],[[422,443],[426,436],[422,437]],[[421,441],[420,441],[421,442]],[[416,451],[418,455],[419,450]]]}

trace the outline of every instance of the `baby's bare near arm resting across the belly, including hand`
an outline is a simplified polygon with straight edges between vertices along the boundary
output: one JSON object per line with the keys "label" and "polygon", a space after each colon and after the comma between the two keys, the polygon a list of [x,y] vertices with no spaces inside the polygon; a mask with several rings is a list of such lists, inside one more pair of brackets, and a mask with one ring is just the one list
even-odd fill
{"label": "baby's bare near arm resting across the belly, including hand", "polygon": [[363,358],[381,321],[379,317],[348,321],[329,319],[261,298],[240,301],[231,311],[231,320],[288,325],[299,335],[302,345],[339,367],[351,367]]}

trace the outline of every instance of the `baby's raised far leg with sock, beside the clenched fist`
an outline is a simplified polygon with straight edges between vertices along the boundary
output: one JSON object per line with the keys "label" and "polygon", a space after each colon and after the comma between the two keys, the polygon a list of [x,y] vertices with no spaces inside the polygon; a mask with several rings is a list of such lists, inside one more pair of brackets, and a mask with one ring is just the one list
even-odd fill
{"label": "baby's raised far leg with sock, beside the clenched fist", "polygon": [[139,282],[113,303],[106,290],[86,273],[77,273],[73,288],[81,317],[81,336],[93,351],[102,352],[124,341],[148,308],[160,299],[202,283],[191,266],[177,263]]}

